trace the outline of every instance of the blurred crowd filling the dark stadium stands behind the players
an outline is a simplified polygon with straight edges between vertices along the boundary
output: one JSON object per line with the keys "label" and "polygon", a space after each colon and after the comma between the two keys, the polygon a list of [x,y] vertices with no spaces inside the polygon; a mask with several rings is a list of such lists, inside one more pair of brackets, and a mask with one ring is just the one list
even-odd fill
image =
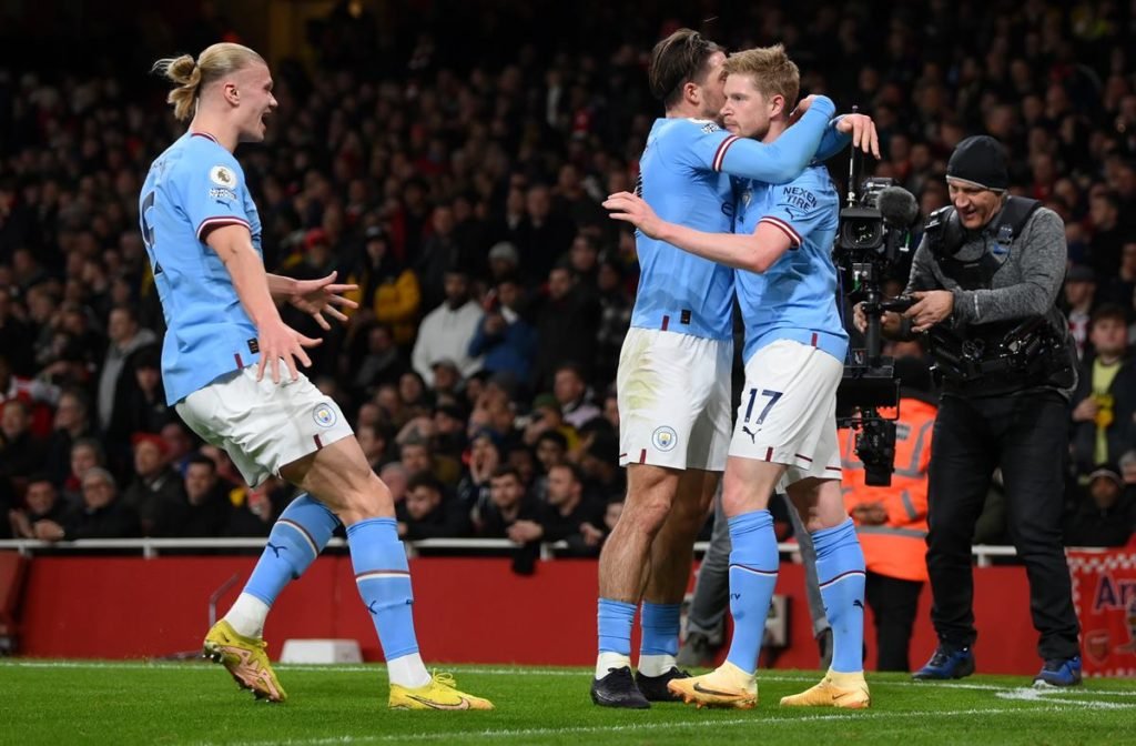
{"label": "blurred crowd filling the dark stadium stands behind the players", "polygon": [[[1083,360],[1067,544],[1124,545],[1136,5],[747,5],[708,34],[734,49],[784,41],[803,92],[870,113],[875,174],[924,215],[947,204],[946,156],[985,132],[1011,154],[1013,191],[1064,218],[1062,305]],[[375,18],[337,8],[315,63],[274,69],[268,140],[237,157],[266,265],[359,285],[359,310],[329,333],[294,309],[285,321],[324,338],[308,375],[352,418],[400,532],[565,539],[595,555],[625,487],[612,381],[636,281],[634,238],[600,201],[635,184],[661,110],[645,55],[677,24],[596,1],[550,30],[504,6],[537,41],[503,36],[486,10],[460,32],[403,20],[402,45],[384,45]],[[575,41],[551,45],[551,31]],[[292,492],[245,486],[162,391],[137,197],[179,125],[159,84],[135,96],[95,69],[0,71],[0,536],[267,534]],[[1116,370],[1111,387],[1093,390],[1094,366]],[[1006,541],[1000,509],[995,491],[979,540]]]}

